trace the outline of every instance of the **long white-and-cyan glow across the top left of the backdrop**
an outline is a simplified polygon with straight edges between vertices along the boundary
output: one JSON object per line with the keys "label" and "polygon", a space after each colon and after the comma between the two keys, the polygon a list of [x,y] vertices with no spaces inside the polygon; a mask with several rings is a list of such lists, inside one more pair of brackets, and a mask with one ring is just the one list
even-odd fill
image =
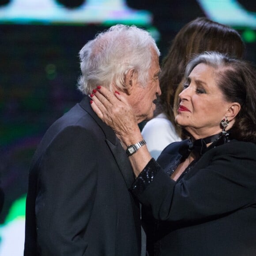
{"label": "long white-and-cyan glow across the top left of the backdrop", "polygon": [[132,23],[151,24],[149,11],[128,8],[124,0],[86,0],[77,8],[65,8],[55,0],[12,0],[0,8],[4,23]]}

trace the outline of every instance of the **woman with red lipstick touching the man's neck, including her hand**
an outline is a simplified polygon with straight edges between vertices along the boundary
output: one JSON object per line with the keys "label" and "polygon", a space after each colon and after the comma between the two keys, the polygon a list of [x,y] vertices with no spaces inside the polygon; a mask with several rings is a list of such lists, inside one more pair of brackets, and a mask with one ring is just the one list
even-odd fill
{"label": "woman with red lipstick touching the man's neck, including her hand", "polygon": [[[131,191],[157,221],[154,255],[256,255],[256,70],[203,53],[185,71],[175,121],[190,139],[155,162],[122,92],[98,90],[91,104],[129,155]],[[132,154],[129,152],[132,150]]]}

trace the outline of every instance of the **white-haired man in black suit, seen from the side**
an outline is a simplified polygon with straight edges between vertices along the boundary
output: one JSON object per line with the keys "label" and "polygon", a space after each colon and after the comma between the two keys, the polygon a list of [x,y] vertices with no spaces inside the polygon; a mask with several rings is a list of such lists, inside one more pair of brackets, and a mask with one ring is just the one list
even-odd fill
{"label": "white-haired man in black suit, seen from the side", "polygon": [[128,190],[132,167],[88,94],[94,87],[118,90],[137,122],[152,118],[161,94],[159,55],[151,35],[136,26],[112,26],[83,46],[85,97],[48,129],[31,163],[25,256],[145,256],[139,203]]}

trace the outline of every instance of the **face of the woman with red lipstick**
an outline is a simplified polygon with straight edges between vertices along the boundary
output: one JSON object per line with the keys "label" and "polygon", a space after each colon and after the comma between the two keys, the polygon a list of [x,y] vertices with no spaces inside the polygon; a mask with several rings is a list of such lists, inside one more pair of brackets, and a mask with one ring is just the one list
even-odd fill
{"label": "face of the woman with red lipstick", "polygon": [[206,64],[198,64],[179,94],[180,105],[175,120],[195,139],[221,132],[220,122],[229,109],[230,102],[217,87],[214,71]]}

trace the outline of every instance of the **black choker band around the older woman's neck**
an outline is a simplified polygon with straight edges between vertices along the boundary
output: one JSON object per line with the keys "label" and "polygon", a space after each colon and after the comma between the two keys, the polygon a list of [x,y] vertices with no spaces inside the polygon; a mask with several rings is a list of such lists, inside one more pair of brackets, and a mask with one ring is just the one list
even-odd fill
{"label": "black choker band around the older woman's neck", "polygon": [[[188,151],[193,151],[201,156],[210,148],[229,142],[230,140],[228,136],[228,133],[223,134],[221,132],[203,139],[196,139],[195,141],[192,141],[192,139],[190,138],[188,143]],[[209,147],[207,147],[206,145],[208,143],[212,144]]]}

